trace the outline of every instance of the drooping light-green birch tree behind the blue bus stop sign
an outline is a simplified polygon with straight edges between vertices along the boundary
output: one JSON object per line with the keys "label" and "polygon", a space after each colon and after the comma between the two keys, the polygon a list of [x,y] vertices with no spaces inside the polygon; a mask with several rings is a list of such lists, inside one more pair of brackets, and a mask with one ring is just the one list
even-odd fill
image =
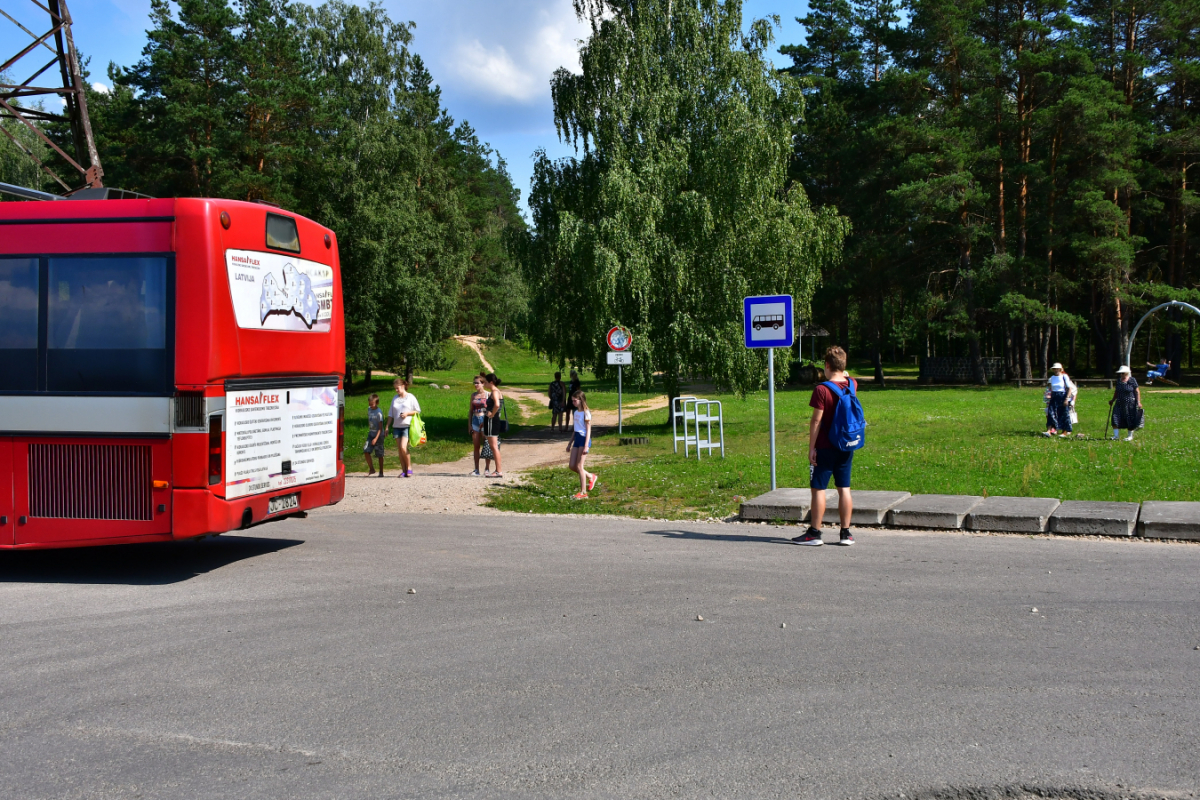
{"label": "drooping light-green birch tree behind the blue bus stop sign", "polygon": [[534,343],[602,371],[602,337],[634,333],[634,377],[685,373],[745,391],[764,356],[743,347],[742,297],[808,306],[846,223],[788,178],[800,85],[716,0],[576,0],[592,26],[582,72],[551,92],[576,157],[535,163],[526,247]]}

